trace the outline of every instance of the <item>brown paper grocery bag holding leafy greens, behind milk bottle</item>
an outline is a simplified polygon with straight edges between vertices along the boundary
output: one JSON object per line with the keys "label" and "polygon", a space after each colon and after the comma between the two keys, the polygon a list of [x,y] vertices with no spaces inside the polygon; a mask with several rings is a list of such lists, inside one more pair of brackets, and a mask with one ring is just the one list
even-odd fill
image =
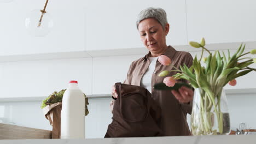
{"label": "brown paper grocery bag holding leafy greens, behind milk bottle", "polygon": [[51,139],[60,139],[61,135],[61,108],[62,103],[58,102],[55,104],[47,105],[43,109],[45,118],[49,120],[50,124],[53,126],[53,131],[51,134]]}

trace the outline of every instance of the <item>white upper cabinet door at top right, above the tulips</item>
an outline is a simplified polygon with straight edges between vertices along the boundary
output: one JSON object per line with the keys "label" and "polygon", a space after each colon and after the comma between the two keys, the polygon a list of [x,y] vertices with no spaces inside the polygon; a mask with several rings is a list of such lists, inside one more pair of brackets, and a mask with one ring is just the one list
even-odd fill
{"label": "white upper cabinet door at top right, above the tulips", "polygon": [[256,41],[256,1],[187,1],[188,41]]}

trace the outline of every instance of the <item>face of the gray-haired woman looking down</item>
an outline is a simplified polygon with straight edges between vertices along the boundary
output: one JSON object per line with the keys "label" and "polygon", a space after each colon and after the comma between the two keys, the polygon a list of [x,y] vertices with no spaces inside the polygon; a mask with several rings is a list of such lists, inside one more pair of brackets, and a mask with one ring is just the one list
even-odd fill
{"label": "face of the gray-haired woman looking down", "polygon": [[141,35],[142,43],[152,53],[153,56],[158,56],[164,53],[166,45],[166,35],[169,31],[169,25],[165,26],[165,31],[160,23],[153,19],[148,18],[139,22],[138,31]]}

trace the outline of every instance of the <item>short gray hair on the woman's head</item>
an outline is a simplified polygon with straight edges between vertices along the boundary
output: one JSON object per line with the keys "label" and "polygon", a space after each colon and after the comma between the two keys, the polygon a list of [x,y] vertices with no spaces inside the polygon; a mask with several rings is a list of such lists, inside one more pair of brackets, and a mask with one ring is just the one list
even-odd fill
{"label": "short gray hair on the woman's head", "polygon": [[148,18],[154,18],[155,20],[157,20],[161,24],[163,29],[165,29],[166,23],[168,23],[164,9],[150,7],[150,8],[142,10],[141,13],[139,13],[139,15],[137,17],[137,21],[136,21],[137,29],[138,29],[139,22],[143,21],[144,19],[148,19]]}

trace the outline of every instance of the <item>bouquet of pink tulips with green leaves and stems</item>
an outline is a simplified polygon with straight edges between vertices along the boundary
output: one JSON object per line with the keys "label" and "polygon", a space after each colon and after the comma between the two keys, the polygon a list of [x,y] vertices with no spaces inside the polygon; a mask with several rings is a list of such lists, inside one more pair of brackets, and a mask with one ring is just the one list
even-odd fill
{"label": "bouquet of pink tulips with green leaves and stems", "polygon": [[[200,92],[200,103],[197,105],[201,116],[199,116],[199,118],[197,117],[196,120],[197,123],[199,121],[200,124],[194,125],[191,120],[191,131],[193,135],[225,134],[223,131],[224,115],[220,105],[223,87],[227,83],[231,86],[235,86],[237,77],[246,75],[251,71],[256,71],[256,69],[249,67],[249,65],[256,63],[256,58],[245,57],[249,53],[256,54],[256,49],[244,53],[245,44],[241,44],[234,55],[231,56],[229,50],[228,55],[225,55],[224,52],[222,52],[221,55],[218,50],[216,50],[214,54],[211,53],[205,48],[205,39],[203,38],[201,43],[190,41],[189,44],[195,48],[202,48],[200,58],[198,59],[195,56],[193,65],[191,65],[190,68],[188,68],[187,65],[176,68],[171,64],[170,58],[161,55],[158,59],[159,62],[163,65],[172,65],[174,69],[170,71],[177,71],[177,74],[165,77],[163,83],[157,83],[154,87],[156,89],[168,89],[167,87],[172,89],[177,84],[179,87],[182,86],[181,83],[176,83],[176,80],[188,80],[191,87],[195,89],[200,88],[202,90]],[[204,51],[209,53],[208,57],[203,57]],[[205,66],[201,65],[201,61],[205,62]],[[159,76],[166,76],[170,71],[164,70]],[[216,118],[212,117],[213,112]],[[217,130],[213,128],[213,119],[217,119]]]}

